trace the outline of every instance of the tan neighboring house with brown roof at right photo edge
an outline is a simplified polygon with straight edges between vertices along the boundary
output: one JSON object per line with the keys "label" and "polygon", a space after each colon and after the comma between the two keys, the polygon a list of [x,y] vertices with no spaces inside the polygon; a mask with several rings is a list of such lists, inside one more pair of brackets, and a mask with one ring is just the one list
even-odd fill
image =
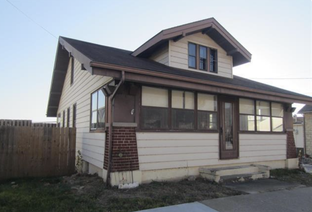
{"label": "tan neighboring house with brown roof at right photo edge", "polygon": [[305,154],[312,156],[312,104],[305,105],[298,113],[303,114]]}

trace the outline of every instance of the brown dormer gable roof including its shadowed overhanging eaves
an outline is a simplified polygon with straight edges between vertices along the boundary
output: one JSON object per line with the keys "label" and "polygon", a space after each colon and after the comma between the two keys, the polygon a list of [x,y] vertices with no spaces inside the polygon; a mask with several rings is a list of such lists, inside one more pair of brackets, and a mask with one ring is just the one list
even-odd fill
{"label": "brown dormer gable roof including its shadowed overhanging eaves", "polygon": [[231,55],[233,57],[233,66],[251,61],[251,53],[214,18],[164,29],[131,54],[133,56],[148,57],[164,42],[168,40],[177,41],[187,35],[198,32],[208,35],[214,42],[220,45],[228,55]]}

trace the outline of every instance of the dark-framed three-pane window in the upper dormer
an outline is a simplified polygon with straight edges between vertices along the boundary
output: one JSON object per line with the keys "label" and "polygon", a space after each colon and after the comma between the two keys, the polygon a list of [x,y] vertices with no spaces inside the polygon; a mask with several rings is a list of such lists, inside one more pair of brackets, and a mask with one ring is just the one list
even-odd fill
{"label": "dark-framed three-pane window in the upper dormer", "polygon": [[189,42],[188,67],[218,73],[217,49]]}

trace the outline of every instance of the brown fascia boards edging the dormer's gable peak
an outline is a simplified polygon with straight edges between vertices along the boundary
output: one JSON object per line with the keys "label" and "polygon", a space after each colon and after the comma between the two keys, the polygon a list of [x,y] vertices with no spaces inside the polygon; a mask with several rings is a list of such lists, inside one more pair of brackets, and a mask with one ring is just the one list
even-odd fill
{"label": "brown fascia boards edging the dormer's gable peak", "polygon": [[[162,30],[154,37],[149,39],[139,48],[132,52],[132,56],[138,56],[145,52],[147,49],[152,47],[153,45],[162,42],[163,40],[171,40],[175,38],[181,38],[193,33],[200,32],[202,30],[208,29],[209,27],[217,30],[232,46],[234,46],[235,50],[232,53],[239,52],[241,53],[249,62],[251,61],[251,53],[241,44],[239,43],[229,32],[214,18],[205,19],[202,21],[196,21],[192,23],[187,23],[184,25],[172,27],[169,29]],[[229,54],[232,54],[228,52]]]}

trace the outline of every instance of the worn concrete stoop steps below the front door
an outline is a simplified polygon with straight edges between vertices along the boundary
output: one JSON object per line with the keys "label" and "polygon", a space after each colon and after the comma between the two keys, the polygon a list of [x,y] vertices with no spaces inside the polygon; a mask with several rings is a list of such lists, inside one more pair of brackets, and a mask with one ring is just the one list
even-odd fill
{"label": "worn concrete stoop steps below the front door", "polygon": [[200,175],[216,183],[229,181],[245,181],[265,179],[270,177],[270,167],[258,164],[250,166],[235,166],[222,168],[200,168]]}

